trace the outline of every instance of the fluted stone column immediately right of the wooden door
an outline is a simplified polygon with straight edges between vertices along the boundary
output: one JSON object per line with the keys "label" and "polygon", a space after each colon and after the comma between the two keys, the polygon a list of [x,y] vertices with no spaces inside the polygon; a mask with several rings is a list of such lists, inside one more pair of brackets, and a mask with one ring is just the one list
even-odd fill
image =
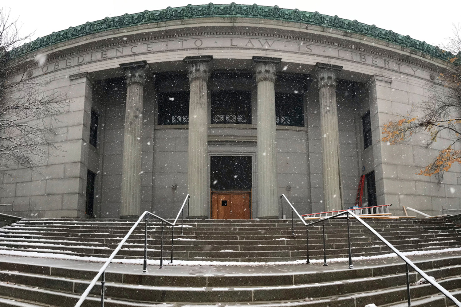
{"label": "fluted stone column immediately right of the wooden door", "polygon": [[280,58],[253,57],[258,83],[256,217],[278,219],[277,135],[275,129],[275,73]]}

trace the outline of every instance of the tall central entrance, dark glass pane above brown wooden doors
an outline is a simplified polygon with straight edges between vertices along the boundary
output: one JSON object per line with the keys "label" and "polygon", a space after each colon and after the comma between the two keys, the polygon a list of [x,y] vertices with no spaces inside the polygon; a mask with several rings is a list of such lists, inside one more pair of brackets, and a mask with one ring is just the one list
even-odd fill
{"label": "tall central entrance, dark glass pane above brown wooden doors", "polygon": [[251,156],[211,156],[211,218],[251,219]]}

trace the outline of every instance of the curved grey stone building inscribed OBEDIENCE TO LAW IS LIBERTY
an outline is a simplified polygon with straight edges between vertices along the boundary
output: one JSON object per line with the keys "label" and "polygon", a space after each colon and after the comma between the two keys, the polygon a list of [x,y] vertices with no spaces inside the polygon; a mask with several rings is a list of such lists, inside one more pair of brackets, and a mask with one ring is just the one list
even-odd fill
{"label": "curved grey stone building inscribed OBEDIENCE TO LAW IS LIBERTY", "polygon": [[318,13],[209,4],[106,18],[12,54],[46,56],[30,78],[71,99],[53,123],[64,154],[1,181],[15,215],[169,218],[189,193],[191,217],[278,218],[282,193],[301,214],[349,208],[362,174],[369,205],[460,208],[457,165],[442,185],[416,175],[448,136],[430,149],[380,141],[451,69],[424,42]]}

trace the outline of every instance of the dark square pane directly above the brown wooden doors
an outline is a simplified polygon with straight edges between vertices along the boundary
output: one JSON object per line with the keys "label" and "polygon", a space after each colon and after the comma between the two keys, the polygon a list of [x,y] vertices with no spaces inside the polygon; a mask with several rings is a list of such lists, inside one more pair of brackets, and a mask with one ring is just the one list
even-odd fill
{"label": "dark square pane directly above the brown wooden doors", "polygon": [[211,156],[211,191],[250,191],[251,156]]}

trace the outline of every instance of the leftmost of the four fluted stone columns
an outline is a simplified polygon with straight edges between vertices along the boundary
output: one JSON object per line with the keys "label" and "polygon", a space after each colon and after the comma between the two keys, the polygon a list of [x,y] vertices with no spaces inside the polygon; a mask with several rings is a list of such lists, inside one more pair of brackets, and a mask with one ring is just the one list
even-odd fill
{"label": "leftmost of the four fluted stone columns", "polygon": [[120,64],[126,72],[126,110],[123,141],[122,203],[120,218],[141,214],[142,103],[148,64],[146,61]]}

